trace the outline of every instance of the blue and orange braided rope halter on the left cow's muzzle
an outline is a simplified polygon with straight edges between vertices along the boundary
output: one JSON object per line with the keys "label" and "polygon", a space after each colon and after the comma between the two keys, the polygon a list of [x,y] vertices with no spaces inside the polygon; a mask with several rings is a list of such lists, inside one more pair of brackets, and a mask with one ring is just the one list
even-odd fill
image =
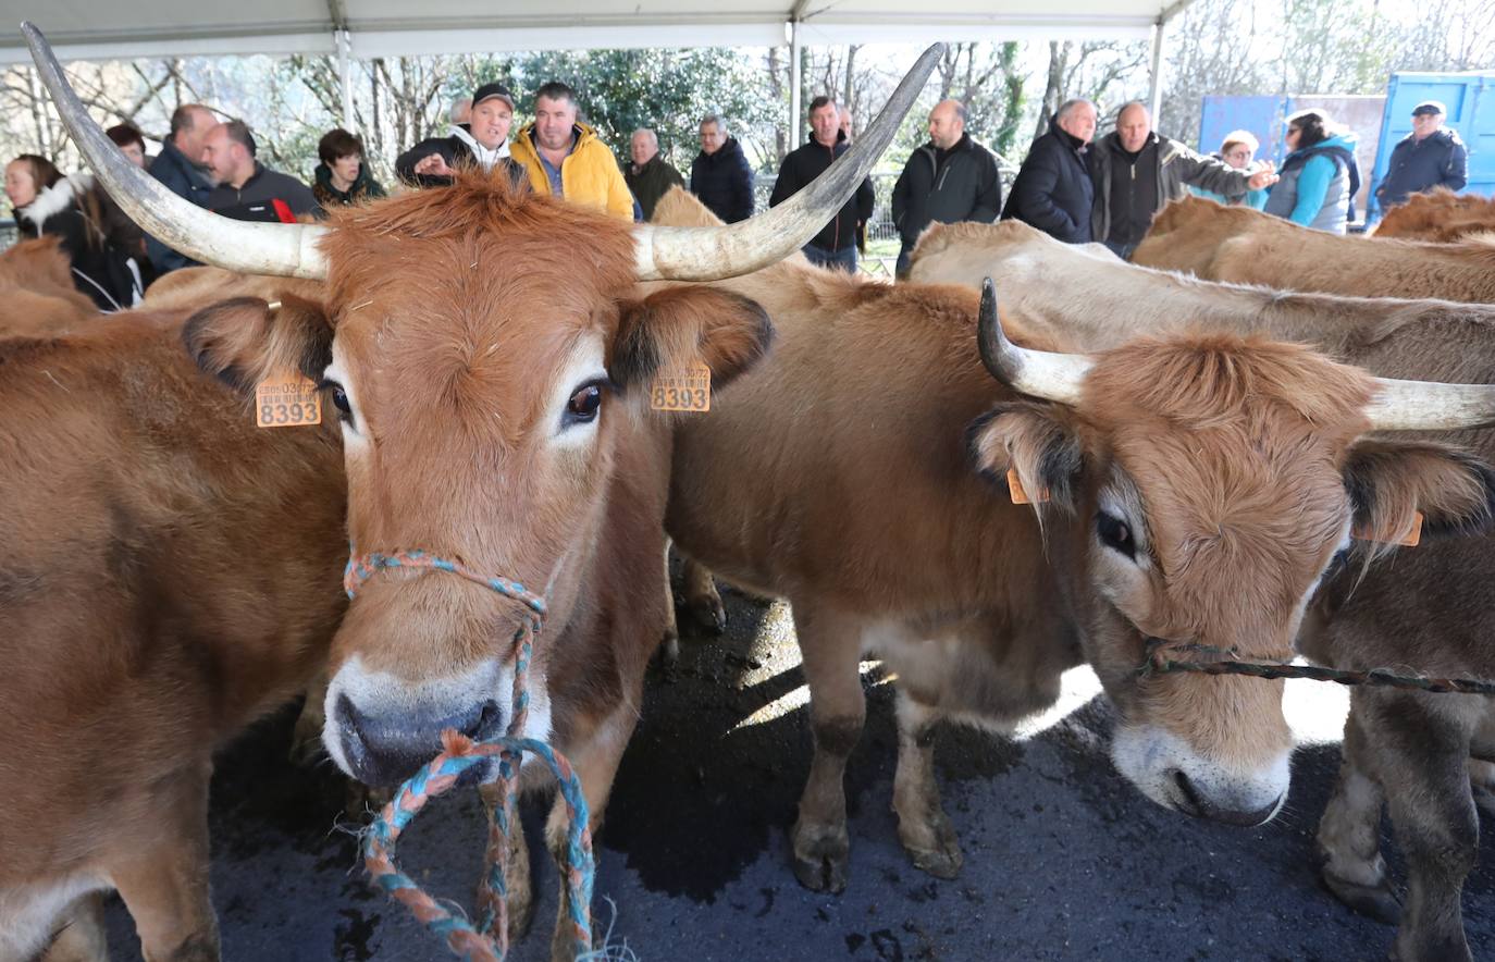
{"label": "blue and orange braided rope halter on the left cow's muzzle", "polygon": [[[351,555],[342,573],[342,588],[348,598],[383,569],[425,569],[446,572],[483,585],[529,609],[514,631],[514,717],[504,738],[474,742],[465,735],[447,729],[441,733],[443,751],[425,768],[399,787],[389,805],[374,818],[363,835],[363,866],[372,881],[387,895],[405,905],[428,929],[440,935],[447,947],[462,959],[498,962],[508,955],[508,887],[504,869],[508,863],[508,836],[519,823],[519,768],[523,753],[531,751],[550,766],[561,787],[567,806],[567,904],[571,913],[573,944],[577,956],[592,952],[592,881],[595,862],[592,859],[591,814],[582,779],[571,763],[546,742],[523,738],[529,720],[529,661],[534,657],[534,640],[546,615],[543,597],[523,585],[504,577],[487,577],[457,561],[437,558],[423,551],[395,554],[371,552]],[[459,778],[477,769],[478,782],[496,782],[502,805],[489,809],[486,871],[478,884],[477,925],[453,913],[420,889],[395,863],[395,842],[401,832],[414,821],[426,802],[444,794]]]}

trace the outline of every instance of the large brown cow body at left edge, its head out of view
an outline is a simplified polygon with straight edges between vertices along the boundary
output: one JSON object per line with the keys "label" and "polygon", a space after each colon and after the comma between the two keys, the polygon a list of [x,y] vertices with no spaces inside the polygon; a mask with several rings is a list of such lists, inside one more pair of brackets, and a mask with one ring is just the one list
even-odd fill
{"label": "large brown cow body at left edge, its head out of view", "polygon": [[332,420],[256,429],[181,317],[0,343],[3,959],[75,901],[58,952],[106,958],[108,887],[147,958],[215,952],[212,753],[320,670],[345,604]]}

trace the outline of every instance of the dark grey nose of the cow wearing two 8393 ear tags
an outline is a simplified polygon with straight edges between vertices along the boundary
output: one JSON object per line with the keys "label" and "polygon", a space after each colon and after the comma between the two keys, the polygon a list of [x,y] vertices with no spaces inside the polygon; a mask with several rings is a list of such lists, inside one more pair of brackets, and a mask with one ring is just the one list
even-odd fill
{"label": "dark grey nose of the cow wearing two 8393 ear tags", "polygon": [[[359,709],[353,699],[342,694],[333,708],[342,756],[353,776],[372,787],[393,787],[414,775],[441,751],[441,733],[447,729],[474,741],[502,735],[502,715],[493,699],[456,712],[378,714]],[[477,776],[475,770],[472,776]]]}

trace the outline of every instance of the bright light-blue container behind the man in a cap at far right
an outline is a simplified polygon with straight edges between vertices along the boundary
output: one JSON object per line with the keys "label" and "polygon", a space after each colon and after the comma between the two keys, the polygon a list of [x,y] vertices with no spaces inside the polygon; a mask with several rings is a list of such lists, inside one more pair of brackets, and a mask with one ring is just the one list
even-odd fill
{"label": "bright light-blue container behind the man in a cap at far right", "polygon": [[[1468,73],[1392,73],[1381,115],[1381,145],[1375,153],[1371,184],[1380,184],[1390,166],[1392,148],[1411,133],[1411,108],[1441,100],[1449,109],[1444,126],[1459,132],[1470,148],[1467,193],[1495,194],[1495,70]],[[1369,199],[1374,205],[1374,196]],[[1381,211],[1371,208],[1371,220]]]}

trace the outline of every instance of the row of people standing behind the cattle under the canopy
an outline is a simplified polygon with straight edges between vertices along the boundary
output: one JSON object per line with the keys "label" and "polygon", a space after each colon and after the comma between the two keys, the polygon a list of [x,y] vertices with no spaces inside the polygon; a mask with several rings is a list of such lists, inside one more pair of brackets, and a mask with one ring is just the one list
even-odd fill
{"label": "row of people standing behind the cattle under the canopy", "polygon": [[[443,187],[459,168],[499,168],[516,189],[631,220],[652,217],[659,199],[679,186],[725,223],[753,214],[752,166],[719,114],[700,120],[700,153],[685,177],[661,156],[659,138],[647,127],[632,132],[629,159],[619,165],[597,130],[580,120],[579,94],[567,84],[541,85],[529,105],[534,118],[519,130],[513,129],[516,106],[508,87],[483,84],[453,105],[443,136],[428,138],[399,156],[396,175],[410,187]],[[1464,187],[1467,151],[1458,133],[1443,127],[1446,114],[1435,100],[1413,109],[1413,132],[1396,144],[1375,190],[1383,208],[1435,187]],[[806,187],[851,144],[851,112],[834,97],[810,100],[807,118],[809,139],[780,163],[770,206]],[[1289,153],[1277,169],[1256,159],[1260,144],[1247,130],[1227,135],[1215,154],[1192,151],[1153,130],[1141,102],[1123,105],[1114,130],[1096,142],[1096,105],[1069,100],[1033,142],[1006,203],[997,159],[966,133],[967,120],[963,103],[937,103],[928,115],[930,139],[910,153],[894,186],[898,277],[906,274],[919,235],[934,221],[991,223],[1009,217],[1060,241],[1099,242],[1130,257],[1157,211],[1187,192],[1334,233],[1344,233],[1354,218],[1353,197],[1360,187],[1356,138],[1320,109],[1286,118]],[[386,194],[363,163],[363,142],[342,129],[318,142],[309,187],[266,168],[242,120],[220,121],[200,103],[172,112],[170,130],[154,157],[130,124],[111,127],[108,135],[130,162],[170,192],[238,220],[290,223]],[[78,289],[103,310],[130,307],[154,277],[191,263],[144,235],[85,172],[64,177],[46,157],[21,154],[6,166],[4,190],[21,236],[57,235]],[[855,271],[872,217],[873,189],[864,180],[804,245],[806,257]]]}

